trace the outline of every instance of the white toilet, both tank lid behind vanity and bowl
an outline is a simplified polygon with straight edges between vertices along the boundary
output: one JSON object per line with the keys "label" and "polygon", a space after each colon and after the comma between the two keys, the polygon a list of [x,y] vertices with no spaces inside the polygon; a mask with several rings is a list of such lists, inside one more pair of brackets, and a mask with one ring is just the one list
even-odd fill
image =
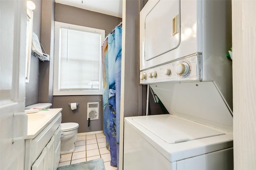
{"label": "white toilet, both tank lid behind vanity and bowl", "polygon": [[[25,109],[49,109],[51,103],[37,103],[25,107]],[[61,123],[60,154],[72,153],[75,151],[78,123]]]}

